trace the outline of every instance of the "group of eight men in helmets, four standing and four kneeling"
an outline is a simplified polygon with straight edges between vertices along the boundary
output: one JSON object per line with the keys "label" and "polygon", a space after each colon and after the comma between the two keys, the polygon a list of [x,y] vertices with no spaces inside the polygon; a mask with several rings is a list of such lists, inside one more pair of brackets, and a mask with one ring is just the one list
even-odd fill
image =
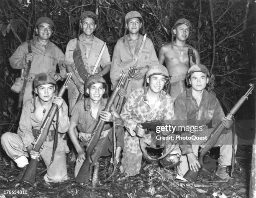
{"label": "group of eight men in helmets, four standing and four kneeling", "polygon": [[[25,169],[29,157],[42,158],[48,168],[44,175],[46,182],[56,183],[67,180],[65,154],[69,152],[69,148],[64,137],[68,131],[77,153],[74,169],[74,176],[77,176],[86,158],[85,147],[90,141],[97,121],[101,119],[106,124],[92,156],[94,163],[101,156],[108,156],[112,152],[111,130],[119,125],[123,130],[116,130],[117,145],[110,166],[115,162],[118,167],[120,166],[121,173],[136,175],[140,172],[143,158],[141,145],[150,146],[154,142],[151,133],[145,133],[142,123],[150,120],[169,120],[173,123],[173,120],[180,120],[180,124],[183,125],[201,126],[203,130],[193,135],[205,136],[222,121],[226,132],[220,136],[216,144],[220,146],[216,174],[223,180],[230,178],[226,168],[231,165],[233,123],[232,120],[225,118],[215,95],[210,90],[206,90],[210,83],[210,73],[200,64],[197,50],[186,43],[192,33],[192,24],[187,19],[177,20],[172,28],[172,42],[161,46],[158,58],[149,38],[146,38],[138,56],[143,40],[139,31],[143,25],[140,13],[137,11],[127,13],[125,35],[117,41],[112,61],[108,48],[105,48],[96,74],[92,74],[104,45],[102,40],[93,35],[97,27],[95,13],[91,11],[82,13],[79,20],[82,34],[69,41],[65,55],[49,40],[55,32],[53,21],[47,17],[41,17],[36,21],[37,36],[31,40],[32,53],[28,52],[28,43],[24,42],[10,57],[10,65],[15,69],[27,68],[31,61],[18,132],[6,132],[1,137],[3,149],[18,167]],[[189,67],[189,49],[195,53],[197,63],[190,65],[191,67]],[[108,100],[108,84],[103,78],[104,75],[110,72],[112,89],[114,89],[120,80],[120,74],[123,71],[128,72],[128,69],[135,65],[136,59],[138,60],[135,72],[127,90],[120,88],[118,92],[119,97],[126,98],[122,112],[119,114],[115,109],[117,101],[112,105],[110,112],[104,111]],[[166,67],[163,66],[164,63]],[[56,65],[59,65],[59,73],[56,73]],[[56,81],[64,80],[66,73],[69,72],[73,75],[68,86],[68,107],[63,98],[56,97]],[[85,78],[86,72],[89,73],[89,78]],[[166,91],[164,91],[165,87]],[[84,99],[77,101],[79,93],[84,95]],[[33,150],[33,143],[52,103],[58,106],[58,114],[51,124],[40,152],[36,152]],[[56,126],[58,126],[58,144],[51,163]],[[172,134],[163,130],[161,135]],[[163,143],[164,150],[181,155],[178,167],[180,176],[183,176],[189,168],[200,169],[197,155],[198,148],[204,141],[189,140],[180,144],[176,142],[174,147],[172,140]],[[169,150],[170,147],[172,150]],[[123,157],[120,159],[122,150]]]}

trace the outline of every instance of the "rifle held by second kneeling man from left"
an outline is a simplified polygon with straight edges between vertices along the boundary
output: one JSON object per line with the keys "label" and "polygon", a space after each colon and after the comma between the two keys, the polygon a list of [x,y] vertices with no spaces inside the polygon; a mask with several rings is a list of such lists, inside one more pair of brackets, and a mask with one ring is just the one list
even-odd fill
{"label": "rifle held by second kneeling man from left", "polygon": [[[104,111],[108,111],[108,112],[110,111],[110,108],[114,103],[115,96],[118,94],[118,91],[120,89],[120,86],[123,83],[124,78],[125,78],[125,73],[123,73],[123,75],[121,76],[121,78],[118,82],[118,85],[116,86],[112,95],[108,99],[108,102],[104,108]],[[95,145],[97,145],[97,143],[100,139],[100,135],[101,135],[104,125],[105,125],[105,121],[102,121],[101,119],[99,119],[93,132],[92,132],[92,138],[86,148],[86,159],[84,160],[84,162],[77,174],[77,178],[76,178],[77,183],[85,183],[85,182],[87,183],[89,180],[90,167],[93,162],[92,161],[92,151],[94,150]]]}

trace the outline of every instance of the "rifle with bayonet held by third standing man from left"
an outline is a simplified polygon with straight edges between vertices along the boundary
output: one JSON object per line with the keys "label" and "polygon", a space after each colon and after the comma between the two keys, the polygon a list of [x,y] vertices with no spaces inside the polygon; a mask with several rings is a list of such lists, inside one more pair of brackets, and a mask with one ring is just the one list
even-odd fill
{"label": "rifle with bayonet held by third standing man from left", "polygon": [[[134,65],[131,66],[131,68],[129,68],[129,72],[128,72],[128,75],[127,75],[127,78],[124,80],[124,83],[123,83],[123,89],[127,90],[127,87],[128,87],[128,84],[131,80],[131,77],[134,73],[134,70],[136,69],[137,67],[137,64],[138,64],[138,57],[141,55],[141,52],[142,52],[142,49],[144,47],[144,44],[146,42],[146,38],[147,38],[147,33],[143,36],[143,40],[141,42],[141,46],[140,46],[140,49],[138,51],[138,54],[137,54],[137,57],[136,57],[136,60],[135,60],[135,63]],[[125,97],[119,97],[118,99],[118,103],[116,105],[116,110],[117,112],[120,114],[121,113],[121,110],[123,108],[123,103],[125,101]]]}

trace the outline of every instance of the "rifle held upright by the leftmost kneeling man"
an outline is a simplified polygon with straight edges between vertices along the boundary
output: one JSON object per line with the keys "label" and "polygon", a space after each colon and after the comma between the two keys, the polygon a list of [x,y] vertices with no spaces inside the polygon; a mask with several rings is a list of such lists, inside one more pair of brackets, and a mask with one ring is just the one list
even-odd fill
{"label": "rifle held upright by the leftmost kneeling man", "polygon": [[[62,85],[61,89],[59,90],[59,93],[57,95],[58,97],[63,96],[65,90],[67,89],[71,76],[72,76],[72,73],[69,73],[64,85]],[[46,118],[39,130],[39,134],[33,146],[33,150],[35,150],[36,152],[39,152],[41,146],[43,145],[43,143],[47,138],[52,120],[54,119],[57,109],[58,109],[58,106],[56,104],[52,104],[48,114],[46,115]],[[55,133],[58,133],[58,131],[56,131]],[[39,158],[36,158],[36,159],[31,158],[30,163],[26,169],[26,172],[24,173],[22,178],[24,182],[32,183],[32,184],[35,183],[38,162],[39,162]]]}

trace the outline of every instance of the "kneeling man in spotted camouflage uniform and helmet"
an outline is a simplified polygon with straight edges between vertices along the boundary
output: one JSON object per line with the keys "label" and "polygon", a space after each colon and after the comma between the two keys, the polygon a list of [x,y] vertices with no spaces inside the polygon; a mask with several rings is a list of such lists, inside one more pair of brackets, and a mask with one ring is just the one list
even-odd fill
{"label": "kneeling man in spotted camouflage uniform and helmet", "polygon": [[[134,90],[129,95],[121,113],[126,131],[120,171],[128,175],[136,175],[141,169],[143,152],[140,141],[148,145],[154,141],[151,133],[145,134],[141,124],[148,120],[174,120],[173,100],[163,91],[169,81],[168,70],[158,63],[149,65],[145,81],[144,88]],[[167,131],[162,131],[162,134],[169,135]],[[171,144],[167,143],[166,146]],[[175,146],[172,153],[178,153],[177,150]]]}

